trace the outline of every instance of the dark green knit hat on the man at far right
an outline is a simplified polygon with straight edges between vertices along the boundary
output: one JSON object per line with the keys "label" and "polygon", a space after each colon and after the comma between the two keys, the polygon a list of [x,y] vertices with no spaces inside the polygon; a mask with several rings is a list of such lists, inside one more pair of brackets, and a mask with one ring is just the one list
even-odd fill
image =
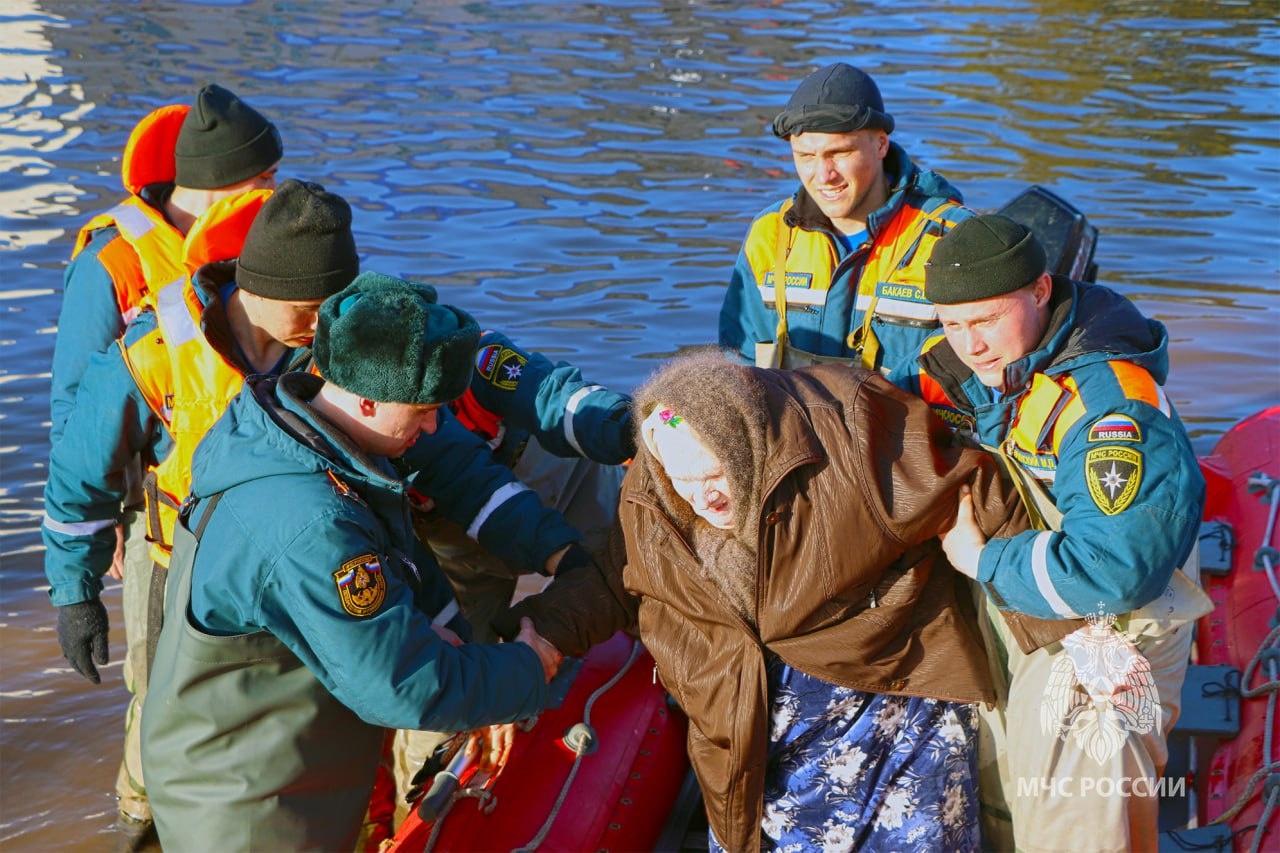
{"label": "dark green knit hat on the man at far right", "polygon": [[933,246],[924,264],[924,298],[977,302],[1027,287],[1044,272],[1044,247],[1009,216],[965,219]]}

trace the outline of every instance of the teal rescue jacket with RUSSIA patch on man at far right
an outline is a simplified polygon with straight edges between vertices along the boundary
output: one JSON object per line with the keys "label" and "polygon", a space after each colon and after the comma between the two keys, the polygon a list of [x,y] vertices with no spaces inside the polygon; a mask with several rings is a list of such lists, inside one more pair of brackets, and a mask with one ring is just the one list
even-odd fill
{"label": "teal rescue jacket with RUSSIA patch on man at far right", "polygon": [[1044,487],[1061,530],[992,539],[978,580],[1041,619],[1120,616],[1155,601],[1196,544],[1204,478],[1165,394],[1165,327],[1115,291],[1055,275],[1034,352],[993,393],[943,336],[890,380]]}

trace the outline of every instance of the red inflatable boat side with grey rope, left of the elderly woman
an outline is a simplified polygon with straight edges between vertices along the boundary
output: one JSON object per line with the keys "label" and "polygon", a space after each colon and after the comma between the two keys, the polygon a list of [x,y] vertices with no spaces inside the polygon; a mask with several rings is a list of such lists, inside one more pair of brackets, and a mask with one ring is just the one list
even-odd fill
{"label": "red inflatable boat side with grey rope, left of the elderly woman", "polygon": [[654,672],[626,634],[596,646],[497,776],[451,762],[383,850],[654,849],[689,772],[687,720]]}

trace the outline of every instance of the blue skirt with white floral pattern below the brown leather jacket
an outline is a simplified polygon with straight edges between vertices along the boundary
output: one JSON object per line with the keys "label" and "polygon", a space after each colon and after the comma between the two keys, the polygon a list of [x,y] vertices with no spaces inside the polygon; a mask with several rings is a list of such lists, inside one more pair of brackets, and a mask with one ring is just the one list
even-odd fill
{"label": "blue skirt with white floral pattern below the brown leather jacket", "polygon": [[974,706],[851,690],[777,658],[768,672],[765,849],[979,848]]}

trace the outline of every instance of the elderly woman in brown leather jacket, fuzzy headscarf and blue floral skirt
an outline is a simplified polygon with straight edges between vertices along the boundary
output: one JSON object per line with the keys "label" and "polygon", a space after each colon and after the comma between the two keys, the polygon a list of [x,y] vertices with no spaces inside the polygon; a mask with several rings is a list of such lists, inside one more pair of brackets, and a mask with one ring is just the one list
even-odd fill
{"label": "elderly woman in brown leather jacket, fuzzy headscarf and blue floral skirt", "polygon": [[938,544],[964,487],[1011,529],[988,457],[838,365],[678,359],[637,392],[621,537],[512,615],[566,653],[637,624],[690,720],[712,847],[974,849],[993,698]]}

